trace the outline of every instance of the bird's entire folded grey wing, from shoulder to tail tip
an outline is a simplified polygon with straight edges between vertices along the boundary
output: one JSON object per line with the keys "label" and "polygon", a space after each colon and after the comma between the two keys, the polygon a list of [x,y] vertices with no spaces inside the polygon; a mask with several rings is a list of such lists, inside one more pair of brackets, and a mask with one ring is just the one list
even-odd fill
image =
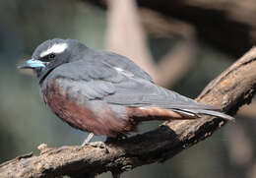
{"label": "bird's entire folded grey wing, from shoulder to tail tip", "polygon": [[81,102],[101,100],[113,105],[162,107],[195,117],[197,114],[207,114],[231,119],[215,111],[217,109],[213,106],[197,103],[193,99],[160,88],[151,81],[138,78],[129,71],[120,71],[104,62],[78,61],[65,64],[59,67],[55,75],[58,80],[65,76],[63,82],[59,84],[63,84],[63,88],[68,88],[71,95],[80,94]]}

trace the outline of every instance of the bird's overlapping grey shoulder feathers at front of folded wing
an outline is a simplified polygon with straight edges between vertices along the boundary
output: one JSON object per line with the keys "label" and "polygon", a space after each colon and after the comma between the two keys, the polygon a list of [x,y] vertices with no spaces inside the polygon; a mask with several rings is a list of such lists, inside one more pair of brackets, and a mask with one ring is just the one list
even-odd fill
{"label": "bird's overlapping grey shoulder feathers at front of folded wing", "polygon": [[80,98],[82,102],[115,93],[114,84],[122,81],[123,77],[103,63],[76,61],[54,69],[48,78],[57,81],[71,97]]}

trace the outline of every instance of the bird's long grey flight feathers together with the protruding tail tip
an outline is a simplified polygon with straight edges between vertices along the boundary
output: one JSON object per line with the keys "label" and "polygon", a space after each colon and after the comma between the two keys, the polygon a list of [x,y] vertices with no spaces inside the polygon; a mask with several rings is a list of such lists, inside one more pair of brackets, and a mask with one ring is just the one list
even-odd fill
{"label": "bird's long grey flight feathers together with the protruding tail tip", "polygon": [[228,116],[217,107],[196,102],[177,92],[163,89],[144,80],[130,79],[115,86],[116,92],[106,95],[104,100],[111,104],[131,107],[161,107],[178,112],[186,117],[197,118],[199,115],[222,117],[226,120],[234,118]]}

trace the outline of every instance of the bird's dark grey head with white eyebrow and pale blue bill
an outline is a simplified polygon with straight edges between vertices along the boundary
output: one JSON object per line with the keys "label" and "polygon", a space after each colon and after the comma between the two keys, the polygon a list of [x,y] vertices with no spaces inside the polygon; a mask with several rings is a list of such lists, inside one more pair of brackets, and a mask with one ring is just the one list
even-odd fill
{"label": "bird's dark grey head with white eyebrow and pale blue bill", "polygon": [[81,49],[87,47],[74,39],[49,39],[41,43],[32,54],[32,59],[19,68],[33,69],[39,80],[61,64],[76,60]]}

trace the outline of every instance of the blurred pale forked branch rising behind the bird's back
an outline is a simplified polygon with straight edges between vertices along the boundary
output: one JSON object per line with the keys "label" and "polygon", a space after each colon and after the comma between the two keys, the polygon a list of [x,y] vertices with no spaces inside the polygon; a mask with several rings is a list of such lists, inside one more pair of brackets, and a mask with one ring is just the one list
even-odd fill
{"label": "blurred pale forked branch rising behind the bird's back", "polygon": [[[192,27],[174,20],[165,22],[158,14],[146,9],[138,11],[134,0],[109,0],[107,6],[106,48],[133,60],[160,86],[173,86],[194,64],[198,45]],[[147,46],[146,26],[141,22],[157,31],[163,30],[168,37],[175,33],[183,40],[169,49],[162,59],[154,59]],[[162,29],[162,25],[167,28]],[[159,35],[157,31],[154,33]],[[160,61],[159,64],[156,61]]]}

